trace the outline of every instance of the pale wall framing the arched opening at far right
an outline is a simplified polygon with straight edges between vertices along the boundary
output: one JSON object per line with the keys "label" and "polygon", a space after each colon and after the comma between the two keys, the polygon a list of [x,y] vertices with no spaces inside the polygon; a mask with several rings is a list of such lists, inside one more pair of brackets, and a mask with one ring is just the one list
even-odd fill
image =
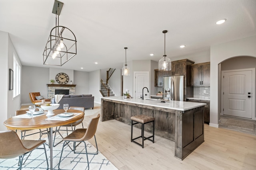
{"label": "pale wall framing the arched opening at far right", "polygon": [[218,127],[220,120],[220,63],[237,56],[256,57],[256,36],[212,45],[210,49],[210,126]]}

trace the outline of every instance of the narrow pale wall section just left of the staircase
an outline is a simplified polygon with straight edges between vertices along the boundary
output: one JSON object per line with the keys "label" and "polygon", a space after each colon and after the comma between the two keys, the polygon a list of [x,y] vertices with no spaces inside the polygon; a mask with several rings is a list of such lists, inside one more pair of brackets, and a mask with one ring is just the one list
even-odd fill
{"label": "narrow pale wall section just left of the staircase", "polygon": [[101,103],[100,97],[100,70],[89,72],[89,94],[94,96],[95,103]]}

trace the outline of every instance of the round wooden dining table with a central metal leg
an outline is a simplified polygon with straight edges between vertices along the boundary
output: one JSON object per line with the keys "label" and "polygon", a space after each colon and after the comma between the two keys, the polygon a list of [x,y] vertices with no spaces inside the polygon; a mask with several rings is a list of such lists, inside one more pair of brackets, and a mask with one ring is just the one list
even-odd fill
{"label": "round wooden dining table with a central metal leg", "polygon": [[[69,109],[67,112],[69,116],[63,116],[64,110],[63,109],[56,109],[54,110],[54,115],[46,116],[46,112],[41,115],[34,115],[33,117],[26,117],[24,115],[14,116],[6,121],[4,121],[4,125],[10,130],[33,130],[33,129],[45,129],[49,128],[49,148],[50,148],[50,169],[52,170],[52,139],[53,139],[53,127],[66,125],[69,123],[73,123],[78,121],[84,117],[84,112],[74,109]],[[70,113],[74,113],[71,115]],[[58,116],[59,115],[59,116]],[[60,116],[62,115],[62,116]],[[71,115],[71,116],[70,116]]]}

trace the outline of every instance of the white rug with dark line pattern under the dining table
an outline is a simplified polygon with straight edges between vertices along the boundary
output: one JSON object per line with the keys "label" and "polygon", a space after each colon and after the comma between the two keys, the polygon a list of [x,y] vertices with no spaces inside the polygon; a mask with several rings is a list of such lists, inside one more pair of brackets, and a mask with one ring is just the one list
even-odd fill
{"label": "white rug with dark line pattern under the dining table", "polygon": [[[97,138],[97,136],[96,136]],[[57,137],[61,140],[60,136]],[[45,139],[46,141],[48,139]],[[96,152],[96,148],[86,141],[87,151]],[[53,147],[53,168],[58,169],[58,163],[60,160],[60,154],[62,150],[63,142]],[[90,170],[118,170],[103,154],[99,153],[97,155],[88,154]],[[50,169],[50,150],[46,145],[49,169]],[[76,151],[84,151],[84,144],[78,145]],[[63,159],[64,157],[64,159]],[[26,158],[26,157],[25,157]],[[24,158],[24,159],[25,159]],[[13,159],[0,159],[0,170],[16,170],[18,168],[18,158]],[[22,166],[22,170],[42,170],[46,169],[47,164],[45,160],[44,150],[36,149],[34,150],[25,164]],[[86,154],[74,154],[72,150],[66,146],[64,147],[64,152],[62,154],[62,162],[60,163],[61,169],[66,170],[88,170]]]}

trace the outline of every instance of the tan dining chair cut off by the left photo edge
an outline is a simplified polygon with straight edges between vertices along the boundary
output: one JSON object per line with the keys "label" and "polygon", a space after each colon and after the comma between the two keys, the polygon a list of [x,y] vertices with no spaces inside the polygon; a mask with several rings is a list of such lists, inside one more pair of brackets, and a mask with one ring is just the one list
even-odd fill
{"label": "tan dining chair cut off by the left photo edge", "polygon": [[[11,159],[19,156],[18,166],[21,170],[23,158],[26,154],[31,153],[34,149],[38,148],[40,145],[44,145],[45,140],[22,140],[18,137],[17,133],[14,131],[1,131],[0,132],[0,158],[1,159]],[[47,163],[47,168],[49,167],[48,158],[46,154],[46,149],[44,145],[44,153]]]}

